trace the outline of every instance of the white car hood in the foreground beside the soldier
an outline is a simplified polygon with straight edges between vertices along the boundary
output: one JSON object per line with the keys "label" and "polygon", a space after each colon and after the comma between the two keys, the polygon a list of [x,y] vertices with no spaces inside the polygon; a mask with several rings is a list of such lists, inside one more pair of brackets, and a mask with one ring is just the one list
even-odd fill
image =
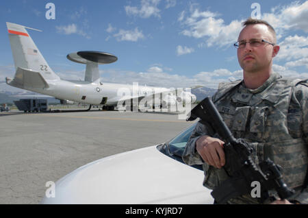
{"label": "white car hood in the foreground beside the soldier", "polygon": [[90,162],[55,183],[42,204],[213,204],[203,171],[157,145]]}

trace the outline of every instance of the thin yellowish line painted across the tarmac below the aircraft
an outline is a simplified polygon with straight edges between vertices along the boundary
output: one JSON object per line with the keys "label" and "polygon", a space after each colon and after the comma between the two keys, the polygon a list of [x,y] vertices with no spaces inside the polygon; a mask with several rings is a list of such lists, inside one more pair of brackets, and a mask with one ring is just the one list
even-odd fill
{"label": "thin yellowish line painted across the tarmac below the aircraft", "polygon": [[[49,114],[28,114],[36,116],[45,116],[45,117],[64,117],[62,115],[49,115]],[[119,117],[83,117],[83,116],[65,116],[68,118],[81,118],[81,119],[109,119],[109,120],[120,120],[120,121],[154,121],[154,122],[165,122],[165,123],[193,123],[193,121],[165,121],[160,119],[133,119],[133,118],[119,118]]]}

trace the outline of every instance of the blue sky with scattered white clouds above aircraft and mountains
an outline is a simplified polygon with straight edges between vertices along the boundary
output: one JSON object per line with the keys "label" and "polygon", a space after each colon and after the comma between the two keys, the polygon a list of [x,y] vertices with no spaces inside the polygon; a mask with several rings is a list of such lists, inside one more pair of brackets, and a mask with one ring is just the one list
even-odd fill
{"label": "blue sky with scattered white clouds above aircraft and mountains", "polygon": [[[47,3],[55,19],[46,19]],[[90,3],[89,3],[90,2]],[[274,71],[308,77],[308,1],[70,1],[10,0],[0,8],[0,82],[14,77],[14,62],[5,22],[28,30],[53,71],[67,80],[84,80],[85,66],[70,62],[75,51],[105,51],[118,57],[100,65],[105,82],[139,82],[190,87],[242,78],[233,43],[241,23],[260,5],[261,19],[274,26],[281,51]],[[0,89],[8,88],[0,84]]]}

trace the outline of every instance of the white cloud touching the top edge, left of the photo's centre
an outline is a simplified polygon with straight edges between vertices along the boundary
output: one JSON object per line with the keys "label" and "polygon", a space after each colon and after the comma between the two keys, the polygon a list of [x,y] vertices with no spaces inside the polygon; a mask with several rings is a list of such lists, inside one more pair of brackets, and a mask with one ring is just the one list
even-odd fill
{"label": "white cloud touching the top edge, left of the photo's centre", "polygon": [[157,16],[160,18],[160,10],[157,8],[160,0],[142,0],[140,7],[125,6],[127,15],[140,16],[144,19],[150,16]]}

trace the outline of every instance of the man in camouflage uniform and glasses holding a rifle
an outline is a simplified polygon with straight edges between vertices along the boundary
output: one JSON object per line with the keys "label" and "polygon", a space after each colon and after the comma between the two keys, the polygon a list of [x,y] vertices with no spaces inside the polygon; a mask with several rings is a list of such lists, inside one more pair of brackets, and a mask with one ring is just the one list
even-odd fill
{"label": "man in camouflage uniform and glasses holding a rifle", "polygon": [[[272,204],[308,204],[308,189],[302,189],[307,173],[307,80],[287,80],[272,71],[279,45],[270,24],[259,19],[247,19],[243,24],[234,46],[244,80],[219,84],[212,101],[235,138],[251,143],[256,162],[270,158],[283,168],[283,180],[296,194]],[[228,178],[222,169],[224,142],[216,137],[198,122],[183,153],[188,165],[203,164],[203,185],[209,189]],[[258,202],[251,195],[241,195],[228,204]]]}

